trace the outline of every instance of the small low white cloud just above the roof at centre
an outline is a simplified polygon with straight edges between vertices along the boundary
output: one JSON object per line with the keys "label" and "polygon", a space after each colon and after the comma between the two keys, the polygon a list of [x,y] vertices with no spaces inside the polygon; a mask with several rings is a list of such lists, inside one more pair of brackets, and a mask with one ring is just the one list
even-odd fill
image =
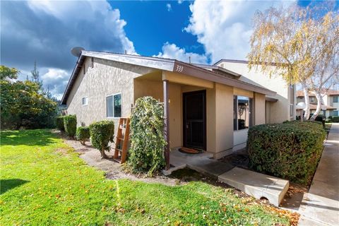
{"label": "small low white cloud just above the roof at centre", "polygon": [[206,55],[186,52],[185,49],[181,49],[177,47],[176,44],[169,44],[168,42],[162,46],[162,52],[159,52],[159,54],[153,57],[177,59],[184,62],[189,62],[189,57],[191,57],[191,63],[198,64],[206,64],[208,61],[208,57],[206,57]]}

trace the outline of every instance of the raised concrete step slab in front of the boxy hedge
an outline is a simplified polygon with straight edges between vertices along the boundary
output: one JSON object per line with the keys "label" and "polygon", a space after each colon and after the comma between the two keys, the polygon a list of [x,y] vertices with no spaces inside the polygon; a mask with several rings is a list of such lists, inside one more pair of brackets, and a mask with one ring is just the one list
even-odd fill
{"label": "raised concrete step slab in front of the boxy hedge", "polygon": [[234,167],[218,177],[220,182],[244,191],[254,198],[267,198],[274,206],[279,206],[290,186],[285,179],[268,176],[251,170]]}

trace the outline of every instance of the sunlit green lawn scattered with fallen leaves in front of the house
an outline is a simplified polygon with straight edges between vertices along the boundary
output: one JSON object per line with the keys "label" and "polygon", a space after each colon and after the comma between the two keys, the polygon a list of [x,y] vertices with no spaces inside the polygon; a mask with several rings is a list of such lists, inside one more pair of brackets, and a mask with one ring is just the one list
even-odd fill
{"label": "sunlit green lawn scattered with fallen leaves in front of the house", "polygon": [[203,182],[105,179],[48,130],[1,132],[0,225],[289,225]]}

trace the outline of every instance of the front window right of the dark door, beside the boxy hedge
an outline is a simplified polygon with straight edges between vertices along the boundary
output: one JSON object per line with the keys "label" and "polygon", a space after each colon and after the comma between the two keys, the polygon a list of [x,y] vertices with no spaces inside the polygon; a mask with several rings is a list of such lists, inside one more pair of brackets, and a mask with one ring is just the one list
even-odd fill
{"label": "front window right of the dark door, beside the boxy hedge", "polygon": [[253,99],[249,97],[233,97],[233,129],[248,129],[253,124],[251,108]]}

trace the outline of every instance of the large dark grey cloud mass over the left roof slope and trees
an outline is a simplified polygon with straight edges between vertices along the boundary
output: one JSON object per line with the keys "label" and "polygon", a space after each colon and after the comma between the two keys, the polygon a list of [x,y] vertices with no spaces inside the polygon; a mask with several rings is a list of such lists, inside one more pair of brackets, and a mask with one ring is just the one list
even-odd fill
{"label": "large dark grey cloud mass over the left roof slope and trees", "polygon": [[136,54],[125,25],[107,1],[2,1],[1,64],[25,79],[37,61],[44,88],[61,97],[76,62],[72,47]]}

